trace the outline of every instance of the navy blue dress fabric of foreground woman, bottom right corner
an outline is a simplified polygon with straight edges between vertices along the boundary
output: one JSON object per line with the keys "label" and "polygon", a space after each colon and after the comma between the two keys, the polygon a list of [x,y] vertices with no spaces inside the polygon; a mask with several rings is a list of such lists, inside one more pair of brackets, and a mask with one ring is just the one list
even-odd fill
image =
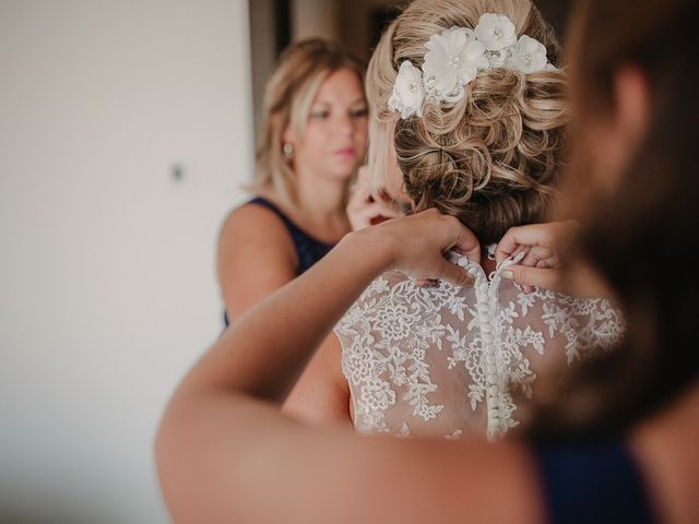
{"label": "navy blue dress fabric of foreground woman, bottom right corner", "polygon": [[621,441],[543,444],[535,456],[549,523],[657,522],[641,472]]}

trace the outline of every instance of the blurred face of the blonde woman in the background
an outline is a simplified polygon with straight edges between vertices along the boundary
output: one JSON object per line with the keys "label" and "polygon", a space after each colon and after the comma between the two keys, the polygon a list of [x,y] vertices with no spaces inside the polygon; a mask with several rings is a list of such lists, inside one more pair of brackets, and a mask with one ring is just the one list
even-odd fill
{"label": "blurred face of the blonde woman in the background", "polygon": [[367,103],[357,74],[331,73],[313,98],[306,132],[295,146],[299,172],[346,180],[364,162],[367,150]]}

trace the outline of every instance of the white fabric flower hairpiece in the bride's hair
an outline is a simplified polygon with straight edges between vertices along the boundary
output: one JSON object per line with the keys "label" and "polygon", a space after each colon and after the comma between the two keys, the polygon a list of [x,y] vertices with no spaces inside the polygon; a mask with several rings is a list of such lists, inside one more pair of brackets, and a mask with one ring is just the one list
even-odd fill
{"label": "white fabric flower hairpiece in the bride's hair", "polygon": [[475,29],[451,27],[433,35],[422,71],[408,60],[401,63],[389,109],[402,118],[423,116],[425,99],[455,104],[481,71],[506,68],[523,73],[555,70],[546,47],[526,35],[517,38],[512,21],[503,14],[486,13]]}

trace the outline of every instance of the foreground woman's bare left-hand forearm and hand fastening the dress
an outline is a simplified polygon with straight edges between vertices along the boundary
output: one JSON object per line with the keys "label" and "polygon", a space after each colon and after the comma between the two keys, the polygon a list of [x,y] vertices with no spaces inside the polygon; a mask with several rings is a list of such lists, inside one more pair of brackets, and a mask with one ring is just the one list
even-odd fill
{"label": "foreground woman's bare left-hand forearm and hand fastening the dress", "polygon": [[313,349],[383,271],[407,269],[416,277],[466,284],[469,273],[442,255],[450,249],[479,258],[476,237],[436,210],[348,235],[311,270],[236,322],[180,392],[238,392],[280,403]]}

